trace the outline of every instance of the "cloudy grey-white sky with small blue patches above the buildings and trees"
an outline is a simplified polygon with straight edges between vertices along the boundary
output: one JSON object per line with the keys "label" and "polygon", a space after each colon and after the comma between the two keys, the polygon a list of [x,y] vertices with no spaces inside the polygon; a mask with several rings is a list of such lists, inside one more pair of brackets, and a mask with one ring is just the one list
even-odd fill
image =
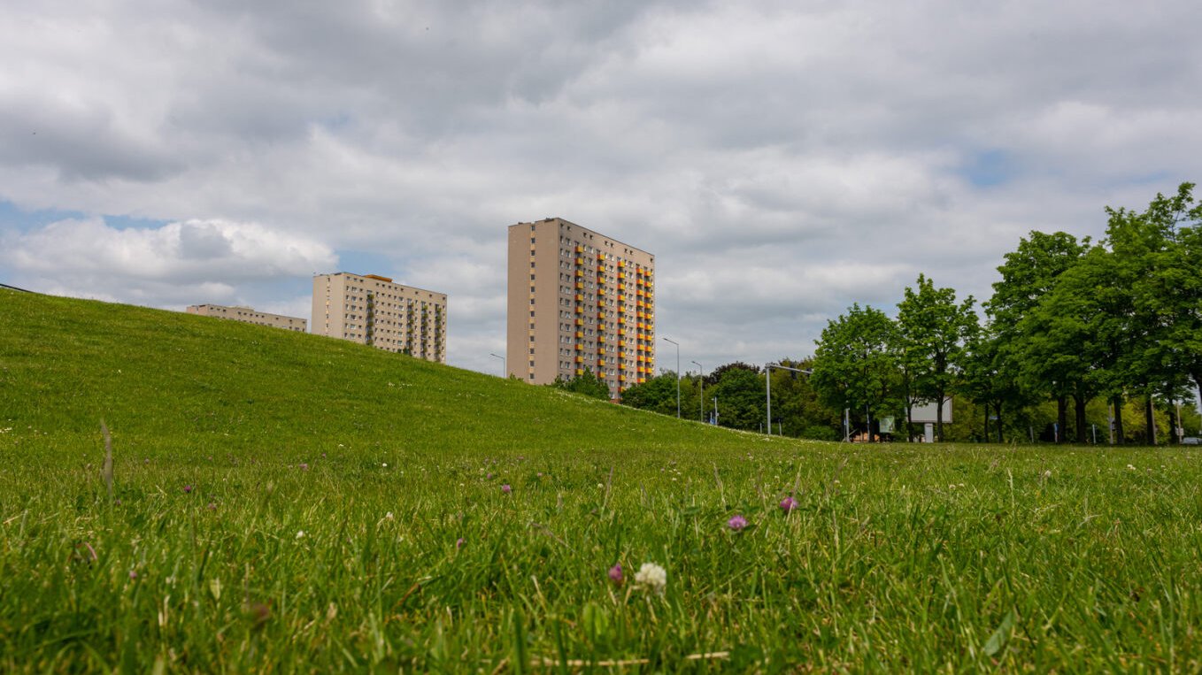
{"label": "cloudy grey-white sky with small blue patches above the buildings and trees", "polygon": [[[798,8],[804,7],[804,8]],[[685,370],[813,353],[920,273],[1202,180],[1197,0],[10,0],[0,282],[309,317],[314,273],[450,295],[500,371],[506,227],[656,256]],[[659,365],[676,352],[660,345]]]}

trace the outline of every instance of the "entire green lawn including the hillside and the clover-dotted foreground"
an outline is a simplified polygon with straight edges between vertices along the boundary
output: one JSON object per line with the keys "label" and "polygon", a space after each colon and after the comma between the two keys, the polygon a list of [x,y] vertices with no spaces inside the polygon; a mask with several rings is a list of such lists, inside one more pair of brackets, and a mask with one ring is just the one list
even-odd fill
{"label": "entire green lawn including the hillside and the clover-dotted foreground", "polygon": [[769,440],[0,292],[0,671],[1202,668],[1189,450]]}

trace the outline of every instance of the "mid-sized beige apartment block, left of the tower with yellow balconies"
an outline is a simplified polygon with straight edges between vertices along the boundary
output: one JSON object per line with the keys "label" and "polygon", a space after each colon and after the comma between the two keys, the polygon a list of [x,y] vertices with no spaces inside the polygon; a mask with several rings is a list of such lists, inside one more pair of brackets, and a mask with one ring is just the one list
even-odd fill
{"label": "mid-sized beige apartment block, left of the tower with yellow balconies", "polygon": [[374,274],[313,277],[313,331],[446,363],[447,297]]}

